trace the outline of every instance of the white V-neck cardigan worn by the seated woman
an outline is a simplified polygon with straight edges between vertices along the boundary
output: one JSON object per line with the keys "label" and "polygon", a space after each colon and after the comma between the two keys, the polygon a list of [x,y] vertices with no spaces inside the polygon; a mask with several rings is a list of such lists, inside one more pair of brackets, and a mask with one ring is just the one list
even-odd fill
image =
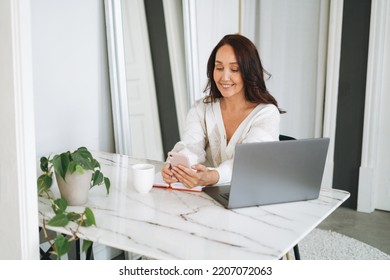
{"label": "white V-neck cardigan worn by the seated woman", "polygon": [[237,143],[279,140],[280,113],[273,104],[259,104],[242,121],[226,143],[225,126],[218,101],[195,102],[186,119],[183,138],[172,149],[189,156],[191,164],[201,163],[219,173],[217,184],[231,181],[234,147]]}

